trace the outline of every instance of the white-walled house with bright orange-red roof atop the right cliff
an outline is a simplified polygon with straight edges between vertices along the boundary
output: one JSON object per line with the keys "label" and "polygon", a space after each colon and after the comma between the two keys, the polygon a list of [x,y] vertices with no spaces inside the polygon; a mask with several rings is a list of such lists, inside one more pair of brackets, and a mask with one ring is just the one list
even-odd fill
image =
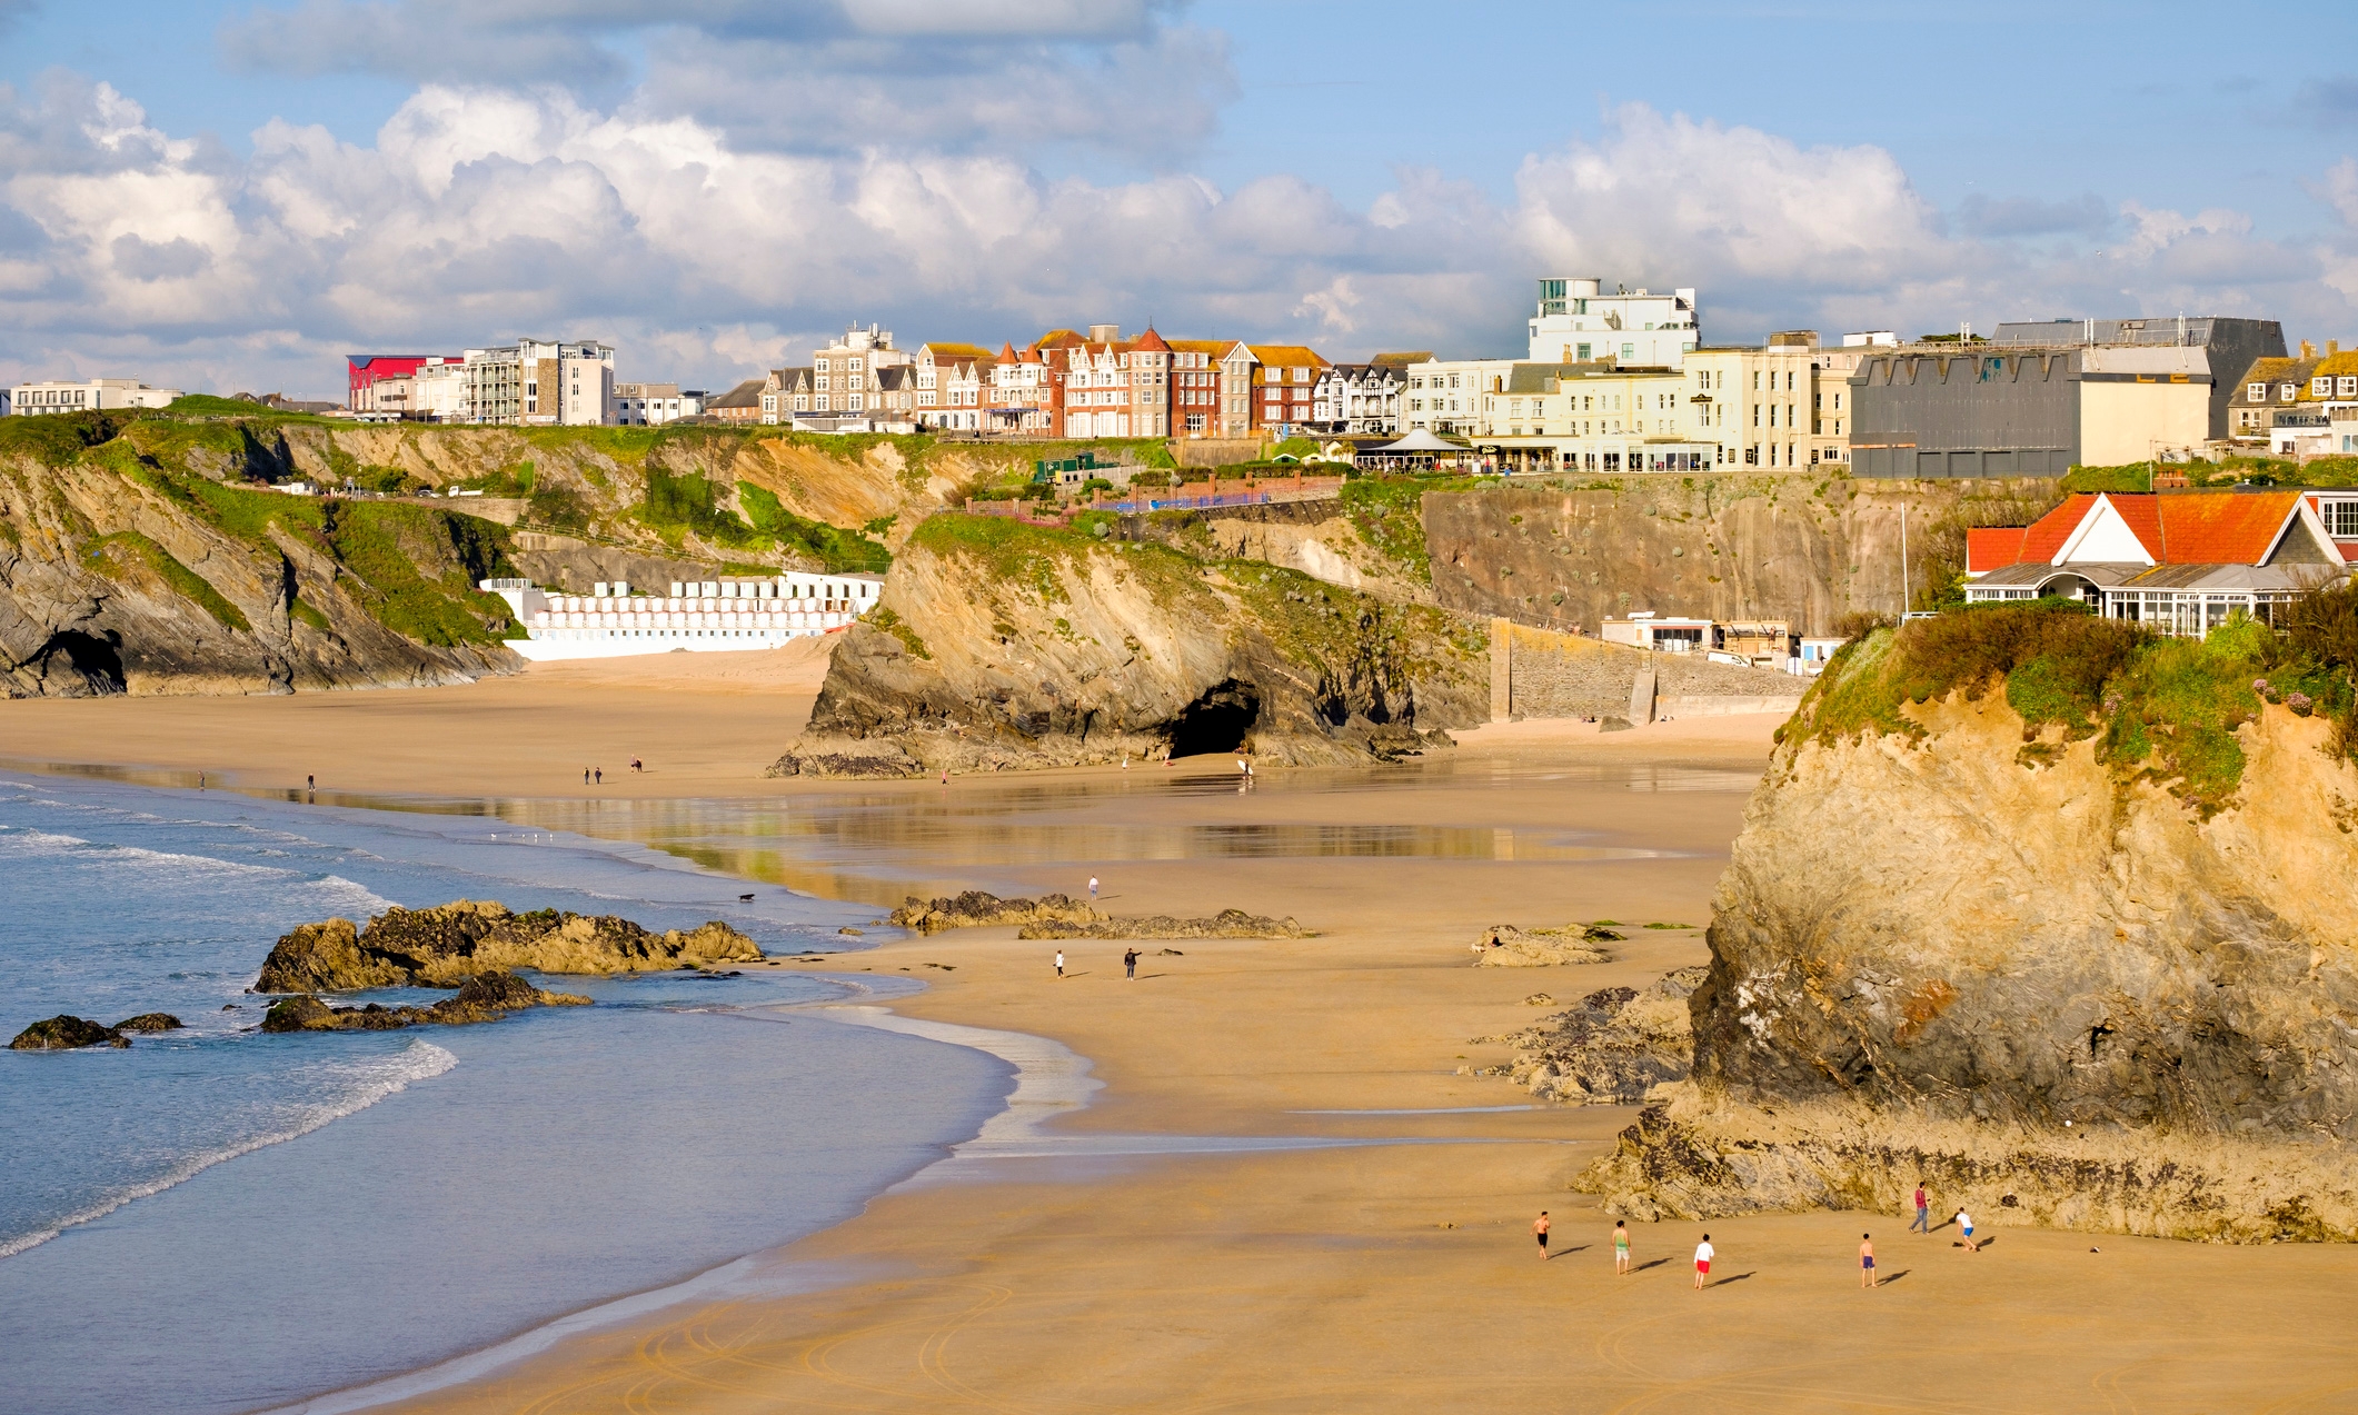
{"label": "white-walled house with bright orange-red roof atop the right cliff", "polygon": [[2200,637],[2242,611],[2349,578],[2344,549],[2299,488],[2080,493],[2030,526],[1967,531],[1967,604],[2059,594],[2106,618]]}

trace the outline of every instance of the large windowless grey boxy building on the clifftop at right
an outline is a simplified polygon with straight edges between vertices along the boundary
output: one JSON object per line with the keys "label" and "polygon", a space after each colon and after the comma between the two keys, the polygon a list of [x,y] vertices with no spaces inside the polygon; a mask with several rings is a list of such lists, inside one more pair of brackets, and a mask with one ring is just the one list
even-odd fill
{"label": "large windowless grey boxy building on the clifftop at right", "polygon": [[2207,316],[2004,323],[1985,344],[1877,349],[1849,380],[1851,472],[2061,476],[2082,460],[2082,384],[2106,382],[2202,384],[2209,436],[2224,439],[2228,380],[2283,351],[2273,318]]}

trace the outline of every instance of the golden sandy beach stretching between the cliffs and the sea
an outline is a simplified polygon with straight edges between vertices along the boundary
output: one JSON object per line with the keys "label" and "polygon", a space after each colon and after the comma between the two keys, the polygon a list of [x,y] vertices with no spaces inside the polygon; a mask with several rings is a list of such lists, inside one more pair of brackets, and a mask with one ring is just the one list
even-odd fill
{"label": "golden sandy beach stretching between the cliffs and the sea", "polygon": [[[679,656],[689,658],[689,656]],[[722,656],[712,656],[722,658]],[[747,656],[752,658],[752,656]],[[769,656],[762,656],[769,658]],[[665,660],[656,665],[670,670]],[[1012,929],[887,939],[811,965],[922,976],[917,1019],[1052,1038],[1104,1082],[1052,1132],[1361,1139],[1264,1153],[960,1163],[780,1257],[804,1295],[698,1299],[566,1337],[417,1410],[2344,1410],[2358,1297],[2344,1248],[2200,1248],[2011,1229],[1964,1252],[1903,1215],[1639,1224],[1570,1174],[1625,1108],[1504,1108],[1469,1038],[1705,957],[1700,929],[1773,719],[1599,736],[1502,724],[1365,771],[1132,769],[839,785],[759,781],[823,663],[580,665],[460,689],[243,700],[0,703],[0,757],[224,774],[283,790],[580,797],[580,766],[656,769],[627,799],[764,797],[924,811],[875,837],[858,896],[1104,882],[1113,913],[1292,915],[1297,941],[1054,946]],[[311,766],[332,762],[332,766]],[[1158,774],[1170,776],[1155,781]],[[1231,769],[1233,771],[1233,769]],[[1179,783],[1193,781],[1193,788]],[[630,832],[634,814],[608,828]],[[590,818],[597,828],[599,818]],[[733,866],[733,861],[722,861]],[[747,856],[750,875],[792,866]],[[847,891],[849,896],[851,891]],[[1483,969],[1486,924],[1632,924],[1613,962]],[[780,965],[799,967],[799,965]],[[745,1097],[747,1106],[792,1097]],[[1445,1141],[1445,1144],[1434,1144]],[[1153,1146],[1129,1146],[1153,1149]],[[1941,1196],[1934,1196],[1941,1203]],[[1554,1217],[1540,1262],[1530,1222]],[[1872,1231],[1886,1285],[1858,1288]]]}

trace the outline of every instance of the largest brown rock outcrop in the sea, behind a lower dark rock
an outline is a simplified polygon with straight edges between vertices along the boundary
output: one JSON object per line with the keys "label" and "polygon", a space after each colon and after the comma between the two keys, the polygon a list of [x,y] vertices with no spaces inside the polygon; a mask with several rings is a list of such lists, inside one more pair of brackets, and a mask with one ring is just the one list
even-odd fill
{"label": "largest brown rock outcrop in the sea, behind a lower dark rock", "polygon": [[302,924],[278,939],[250,990],[455,988],[490,969],[618,974],[759,957],[752,939],[719,920],[651,934],[615,915],[519,915],[502,903],[460,899],[436,908],[391,908],[365,929],[351,920]]}

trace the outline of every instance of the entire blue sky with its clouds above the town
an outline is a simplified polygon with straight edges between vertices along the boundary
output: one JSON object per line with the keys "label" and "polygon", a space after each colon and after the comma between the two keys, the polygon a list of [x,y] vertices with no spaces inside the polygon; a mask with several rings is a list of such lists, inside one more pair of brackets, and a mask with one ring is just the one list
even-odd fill
{"label": "entire blue sky with its clouds above the town", "polygon": [[[1507,356],[2242,314],[2358,342],[2358,5],[0,0],[0,382],[342,396],[849,323]],[[2247,33],[2245,33],[2247,31]]]}

